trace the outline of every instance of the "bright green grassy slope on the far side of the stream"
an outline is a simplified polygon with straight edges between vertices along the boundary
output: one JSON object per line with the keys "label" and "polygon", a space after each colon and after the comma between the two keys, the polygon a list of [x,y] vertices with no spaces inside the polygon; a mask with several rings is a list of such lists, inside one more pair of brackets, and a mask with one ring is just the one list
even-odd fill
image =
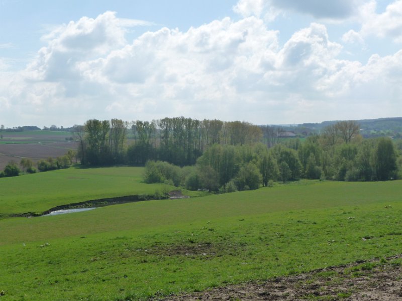
{"label": "bright green grassy slope on the far side of the stream", "polygon": [[143,168],[69,168],[0,180],[0,215],[40,213],[57,205],[100,198],[154,194],[162,185],[141,183]]}

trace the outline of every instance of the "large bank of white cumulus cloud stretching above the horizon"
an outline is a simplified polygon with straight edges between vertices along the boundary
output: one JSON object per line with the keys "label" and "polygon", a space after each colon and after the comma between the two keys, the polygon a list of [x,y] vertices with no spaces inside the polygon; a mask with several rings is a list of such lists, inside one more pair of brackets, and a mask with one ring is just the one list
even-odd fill
{"label": "large bank of white cumulus cloud stretching above the horizon", "polygon": [[400,105],[402,52],[365,64],[341,60],[342,46],[319,23],[283,45],[255,16],[162,28],[132,43],[125,26],[107,12],[57,28],[26,70],[0,72],[1,104],[32,124],[43,116],[59,124],[64,115],[64,125],[178,115],[255,123],[354,119],[377,112],[379,99],[388,100],[384,112]]}

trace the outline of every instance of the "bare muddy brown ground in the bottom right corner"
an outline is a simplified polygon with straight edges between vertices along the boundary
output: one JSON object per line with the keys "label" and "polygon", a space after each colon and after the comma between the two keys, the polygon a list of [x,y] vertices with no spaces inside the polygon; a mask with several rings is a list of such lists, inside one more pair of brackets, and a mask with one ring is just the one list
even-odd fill
{"label": "bare muddy brown ground in the bottom right corner", "polygon": [[402,300],[402,255],[162,300]]}

